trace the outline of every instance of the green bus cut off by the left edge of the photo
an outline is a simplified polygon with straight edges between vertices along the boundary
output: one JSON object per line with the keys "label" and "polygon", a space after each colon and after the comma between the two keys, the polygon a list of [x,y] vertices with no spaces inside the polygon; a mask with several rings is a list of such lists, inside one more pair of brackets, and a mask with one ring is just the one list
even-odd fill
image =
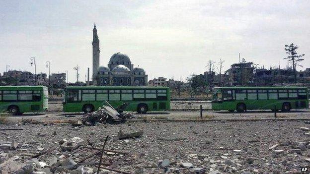
{"label": "green bus cut off by the left edge of the photo", "polygon": [[48,88],[45,86],[0,86],[0,112],[20,115],[47,109]]}

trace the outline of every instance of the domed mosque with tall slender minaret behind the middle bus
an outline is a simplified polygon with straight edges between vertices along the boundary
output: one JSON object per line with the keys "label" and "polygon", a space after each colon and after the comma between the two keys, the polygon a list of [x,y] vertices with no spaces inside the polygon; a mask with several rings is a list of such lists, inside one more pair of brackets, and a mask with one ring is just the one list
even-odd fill
{"label": "domed mosque with tall slender minaret behind the middle bus", "polygon": [[96,25],[92,41],[92,81],[95,86],[147,86],[148,75],[141,67],[135,67],[124,53],[115,53],[108,66],[99,66],[100,48]]}

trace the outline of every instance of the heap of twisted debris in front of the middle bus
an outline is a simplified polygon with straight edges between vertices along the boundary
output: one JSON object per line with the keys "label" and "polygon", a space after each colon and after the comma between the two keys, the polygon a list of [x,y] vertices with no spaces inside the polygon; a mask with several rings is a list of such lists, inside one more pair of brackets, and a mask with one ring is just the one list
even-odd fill
{"label": "heap of twisted debris in front of the middle bus", "polygon": [[81,123],[89,126],[97,125],[98,123],[125,122],[126,119],[134,116],[132,113],[124,112],[127,106],[128,103],[124,103],[117,109],[114,109],[111,105],[99,107],[98,111],[85,114]]}

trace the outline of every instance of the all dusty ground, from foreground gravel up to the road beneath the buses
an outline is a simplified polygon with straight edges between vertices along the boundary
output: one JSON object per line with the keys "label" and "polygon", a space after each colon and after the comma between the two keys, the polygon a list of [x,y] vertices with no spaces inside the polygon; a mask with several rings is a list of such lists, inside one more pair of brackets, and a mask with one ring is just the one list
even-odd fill
{"label": "all dusty ground, from foreground gravel up to the road beneath the buses", "polygon": [[[204,110],[201,118],[199,111],[184,109],[200,104],[210,105],[171,103],[171,109],[181,109],[133,113],[124,123],[85,126],[75,124],[83,114],[63,113],[61,102],[51,101],[46,113],[9,116],[0,124],[0,169],[2,174],[96,173],[100,153],[82,159],[100,152],[107,135],[105,149],[130,155],[106,152],[102,166],[129,174],[290,174],[310,167],[309,110],[279,112],[276,118],[271,111]],[[120,130],[143,135],[119,140]],[[68,151],[66,143],[77,148]]]}

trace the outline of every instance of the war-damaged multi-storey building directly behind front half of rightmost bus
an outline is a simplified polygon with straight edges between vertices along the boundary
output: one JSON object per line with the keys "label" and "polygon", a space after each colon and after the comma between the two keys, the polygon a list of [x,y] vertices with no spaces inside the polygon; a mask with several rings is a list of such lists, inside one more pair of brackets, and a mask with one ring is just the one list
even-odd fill
{"label": "war-damaged multi-storey building directly behind front half of rightmost bus", "polygon": [[225,74],[228,74],[229,86],[250,86],[253,85],[254,67],[253,62],[234,63]]}

